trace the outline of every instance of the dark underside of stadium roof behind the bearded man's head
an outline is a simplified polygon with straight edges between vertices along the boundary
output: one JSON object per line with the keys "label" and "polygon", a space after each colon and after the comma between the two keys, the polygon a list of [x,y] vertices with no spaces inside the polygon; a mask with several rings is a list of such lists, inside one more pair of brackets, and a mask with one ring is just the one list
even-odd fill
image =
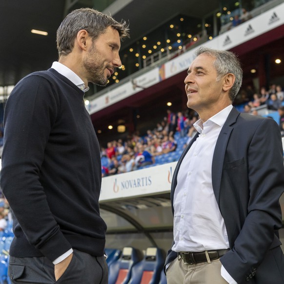
{"label": "dark underside of stadium roof behind the bearded man's head", "polygon": [[[112,3],[111,3],[112,2]],[[107,6],[110,3],[109,6]],[[69,11],[102,7],[116,20],[127,20],[131,39],[122,49],[183,14],[202,18],[219,8],[218,0],[1,0],[0,86],[15,85],[25,75],[48,69],[58,59],[56,30]],[[31,33],[46,31],[47,36]]]}

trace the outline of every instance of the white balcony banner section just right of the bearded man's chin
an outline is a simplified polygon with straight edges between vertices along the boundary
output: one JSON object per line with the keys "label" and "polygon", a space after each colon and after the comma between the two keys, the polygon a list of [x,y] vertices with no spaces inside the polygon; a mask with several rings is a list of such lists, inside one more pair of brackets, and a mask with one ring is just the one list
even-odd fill
{"label": "white balcony banner section just right of the bearded man's chin", "polygon": [[101,97],[96,98],[86,106],[90,114],[95,113],[109,105],[112,105],[118,101],[122,101],[145,88],[157,84],[160,80],[159,68],[147,72],[131,81],[126,82],[118,86],[117,88],[110,90]]}

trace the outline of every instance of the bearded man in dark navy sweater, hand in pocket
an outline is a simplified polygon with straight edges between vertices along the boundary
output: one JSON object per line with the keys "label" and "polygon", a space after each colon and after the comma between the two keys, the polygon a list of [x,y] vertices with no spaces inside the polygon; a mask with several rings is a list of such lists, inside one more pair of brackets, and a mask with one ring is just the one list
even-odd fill
{"label": "bearded man in dark navy sweater, hand in pocket", "polygon": [[78,9],[57,31],[59,61],[12,91],[4,114],[0,185],[14,214],[12,283],[106,284],[98,139],[83,96],[121,66],[117,22]]}

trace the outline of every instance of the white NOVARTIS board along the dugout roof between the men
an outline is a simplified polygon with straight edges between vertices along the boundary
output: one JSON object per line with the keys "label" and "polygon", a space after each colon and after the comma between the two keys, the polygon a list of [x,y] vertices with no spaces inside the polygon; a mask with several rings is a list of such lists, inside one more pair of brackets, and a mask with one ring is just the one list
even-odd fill
{"label": "white NOVARTIS board along the dugout roof between the men", "polygon": [[170,192],[176,164],[171,162],[102,178],[100,202]]}

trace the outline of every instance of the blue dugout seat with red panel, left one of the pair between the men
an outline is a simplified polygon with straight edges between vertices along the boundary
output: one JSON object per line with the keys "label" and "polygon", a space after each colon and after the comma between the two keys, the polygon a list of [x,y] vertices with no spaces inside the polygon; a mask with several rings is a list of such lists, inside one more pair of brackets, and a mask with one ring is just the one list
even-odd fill
{"label": "blue dugout seat with red panel, left one of the pair between the men", "polygon": [[131,278],[131,269],[141,260],[140,252],[133,247],[124,247],[121,257],[108,267],[108,284],[126,284]]}

